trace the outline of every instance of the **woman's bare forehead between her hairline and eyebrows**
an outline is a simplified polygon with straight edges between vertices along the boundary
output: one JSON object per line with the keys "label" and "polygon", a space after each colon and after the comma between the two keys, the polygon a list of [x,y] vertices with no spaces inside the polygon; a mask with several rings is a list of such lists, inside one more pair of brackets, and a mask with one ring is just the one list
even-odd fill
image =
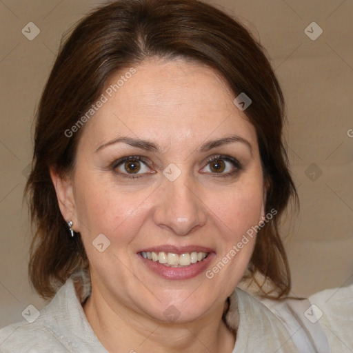
{"label": "woman's bare forehead between her hairline and eyebrows", "polygon": [[234,94],[202,64],[147,61],[110,77],[103,96],[83,134],[96,148],[126,134],[168,143],[202,142],[230,132],[256,140],[254,127],[233,103]]}

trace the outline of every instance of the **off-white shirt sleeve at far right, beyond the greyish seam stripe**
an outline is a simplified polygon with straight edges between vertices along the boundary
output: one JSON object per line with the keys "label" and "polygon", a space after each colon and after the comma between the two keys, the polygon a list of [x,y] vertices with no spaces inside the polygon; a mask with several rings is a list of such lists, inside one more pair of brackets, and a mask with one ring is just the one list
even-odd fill
{"label": "off-white shirt sleeve at far right, beyond the greyish seam stripe", "polygon": [[353,284],[309,297],[332,352],[353,352]]}

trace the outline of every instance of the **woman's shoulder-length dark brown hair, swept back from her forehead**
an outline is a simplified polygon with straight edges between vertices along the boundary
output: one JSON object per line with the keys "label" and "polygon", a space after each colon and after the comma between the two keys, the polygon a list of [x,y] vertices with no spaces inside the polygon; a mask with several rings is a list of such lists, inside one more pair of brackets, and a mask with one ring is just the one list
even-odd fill
{"label": "woman's shoulder-length dark brown hair, swept back from her forehead", "polygon": [[288,294],[290,271],[279,219],[296,190],[282,141],[283,94],[263,48],[248,30],[196,0],[114,1],[83,18],[61,46],[39,103],[25,190],[35,227],[29,263],[34,288],[50,298],[74,270],[88,268],[80,236],[70,237],[50,179],[50,167],[62,173],[74,168],[84,126],[72,137],[65,131],[97,100],[113,73],[153,57],[208,65],[234,98],[245,92],[252,99],[245,113],[256,128],[269,182],[265,212],[275,209],[277,215],[259,231],[248,268],[252,276],[269,279],[278,298]]}

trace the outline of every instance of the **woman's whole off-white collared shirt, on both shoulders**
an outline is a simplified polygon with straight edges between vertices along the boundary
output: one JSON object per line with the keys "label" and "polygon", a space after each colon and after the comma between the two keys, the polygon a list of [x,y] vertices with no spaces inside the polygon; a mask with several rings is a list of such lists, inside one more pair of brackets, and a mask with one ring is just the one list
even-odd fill
{"label": "woman's whole off-white collared shirt, on both shoulders", "polygon": [[[0,330],[0,352],[107,353],[83,312],[84,299],[79,299],[74,282],[68,279],[34,322],[23,321]],[[232,353],[353,352],[353,285],[314,294],[311,304],[295,302],[261,302],[236,288],[226,314],[227,323],[237,330]],[[310,311],[312,304],[319,311]],[[319,320],[312,319],[320,312]],[[313,340],[316,342],[308,343]]]}

